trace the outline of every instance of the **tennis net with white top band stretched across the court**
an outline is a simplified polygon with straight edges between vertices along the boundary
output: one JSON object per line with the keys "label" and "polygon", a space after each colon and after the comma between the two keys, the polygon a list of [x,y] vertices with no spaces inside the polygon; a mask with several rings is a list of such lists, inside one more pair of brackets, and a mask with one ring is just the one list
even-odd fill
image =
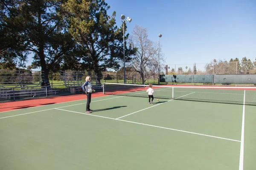
{"label": "tennis net with white top band stretched across the court", "polygon": [[[103,94],[148,97],[148,85],[104,83]],[[256,105],[256,87],[153,85],[154,98]]]}

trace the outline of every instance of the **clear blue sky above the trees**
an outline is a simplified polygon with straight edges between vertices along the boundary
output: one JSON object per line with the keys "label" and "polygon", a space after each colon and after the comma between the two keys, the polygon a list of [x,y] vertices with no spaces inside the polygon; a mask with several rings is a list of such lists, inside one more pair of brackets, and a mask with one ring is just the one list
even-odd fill
{"label": "clear blue sky above the trees", "polygon": [[111,6],[108,15],[116,11],[117,26],[122,25],[121,14],[132,18],[127,33],[137,24],[149,29],[151,41],[157,43],[158,34],[163,35],[160,45],[166,65],[256,58],[256,0],[105,2]]}

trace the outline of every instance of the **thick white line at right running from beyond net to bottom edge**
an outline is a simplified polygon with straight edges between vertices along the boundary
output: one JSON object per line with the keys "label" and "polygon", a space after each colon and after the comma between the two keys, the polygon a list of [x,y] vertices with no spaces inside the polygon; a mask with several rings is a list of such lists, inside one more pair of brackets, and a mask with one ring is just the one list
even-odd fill
{"label": "thick white line at right running from beyond net to bottom edge", "polygon": [[239,170],[244,169],[244,114],[245,114],[245,90],[244,90],[244,105],[243,105],[243,116],[242,116],[243,118],[242,118],[242,130],[241,130]]}

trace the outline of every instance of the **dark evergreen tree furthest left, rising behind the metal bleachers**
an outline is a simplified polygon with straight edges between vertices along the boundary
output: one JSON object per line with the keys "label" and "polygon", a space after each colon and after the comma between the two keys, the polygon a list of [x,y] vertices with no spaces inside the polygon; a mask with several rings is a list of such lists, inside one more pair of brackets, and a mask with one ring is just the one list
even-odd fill
{"label": "dark evergreen tree furthest left, rising behind the metal bleachers", "polygon": [[[34,54],[29,68],[41,67],[44,79],[48,79],[49,71],[62,61],[62,57],[73,47],[71,35],[64,25],[64,14],[61,10],[67,0],[15,0],[6,4],[8,14],[6,28],[13,28],[12,34],[18,40],[16,45],[10,44],[12,50],[22,51],[22,59],[27,54]],[[9,37],[4,37],[8,41]],[[21,49],[21,50],[20,50]],[[17,54],[17,53],[16,53]],[[17,58],[17,56],[16,56]]]}

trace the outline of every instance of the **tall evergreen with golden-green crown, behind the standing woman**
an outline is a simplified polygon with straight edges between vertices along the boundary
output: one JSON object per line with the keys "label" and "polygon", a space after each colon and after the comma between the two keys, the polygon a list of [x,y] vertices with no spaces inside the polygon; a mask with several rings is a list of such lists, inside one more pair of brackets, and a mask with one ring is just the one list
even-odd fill
{"label": "tall evergreen with golden-green crown, behind the standing woman", "polygon": [[[83,68],[96,73],[96,82],[100,83],[101,72],[106,68],[119,69],[119,61],[123,59],[123,29],[115,26],[116,12],[108,16],[110,6],[104,0],[69,0],[63,8],[68,30],[76,41],[74,55],[82,60]],[[131,59],[133,53],[126,48],[126,59]]]}

